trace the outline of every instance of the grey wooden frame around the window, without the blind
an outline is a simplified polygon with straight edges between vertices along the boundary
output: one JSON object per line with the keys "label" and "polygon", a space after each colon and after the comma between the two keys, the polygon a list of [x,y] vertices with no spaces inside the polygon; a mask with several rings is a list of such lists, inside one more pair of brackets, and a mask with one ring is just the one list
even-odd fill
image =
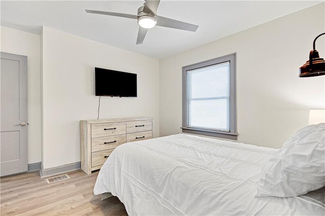
{"label": "grey wooden frame around the window, without the blind", "polygon": [[[230,61],[230,131],[187,127],[187,71]],[[237,140],[236,53],[182,67],[182,132]]]}

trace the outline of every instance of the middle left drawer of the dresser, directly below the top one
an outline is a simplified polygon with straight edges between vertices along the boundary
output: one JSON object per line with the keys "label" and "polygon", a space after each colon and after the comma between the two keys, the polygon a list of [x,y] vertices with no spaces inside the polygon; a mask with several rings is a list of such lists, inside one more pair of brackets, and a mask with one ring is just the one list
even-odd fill
{"label": "middle left drawer of the dresser, directly below the top one", "polygon": [[102,136],[91,139],[91,152],[115,149],[126,142],[126,135]]}

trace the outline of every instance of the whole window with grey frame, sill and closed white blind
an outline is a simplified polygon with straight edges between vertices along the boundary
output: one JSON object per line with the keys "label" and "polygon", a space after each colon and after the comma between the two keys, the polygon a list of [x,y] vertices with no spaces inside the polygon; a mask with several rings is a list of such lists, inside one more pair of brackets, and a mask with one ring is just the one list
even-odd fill
{"label": "whole window with grey frame, sill and closed white blind", "polygon": [[236,54],[183,67],[183,132],[237,139]]}

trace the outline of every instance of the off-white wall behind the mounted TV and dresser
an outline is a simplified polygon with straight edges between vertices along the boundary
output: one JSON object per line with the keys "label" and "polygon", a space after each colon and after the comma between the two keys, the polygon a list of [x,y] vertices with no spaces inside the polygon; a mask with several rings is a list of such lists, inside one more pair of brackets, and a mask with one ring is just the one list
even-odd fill
{"label": "off-white wall behind the mounted TV and dresser", "polygon": [[96,119],[94,67],[138,75],[138,97],[102,97],[100,118],[148,116],[159,136],[159,60],[43,27],[43,168],[80,161],[80,120]]}

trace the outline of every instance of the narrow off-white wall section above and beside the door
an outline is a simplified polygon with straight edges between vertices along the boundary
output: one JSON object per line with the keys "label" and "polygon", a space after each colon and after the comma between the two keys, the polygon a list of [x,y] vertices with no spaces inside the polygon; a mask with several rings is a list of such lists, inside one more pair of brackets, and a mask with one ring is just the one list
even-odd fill
{"label": "narrow off-white wall section above and beside the door", "polygon": [[1,52],[27,56],[28,164],[41,162],[40,35],[1,26]]}

